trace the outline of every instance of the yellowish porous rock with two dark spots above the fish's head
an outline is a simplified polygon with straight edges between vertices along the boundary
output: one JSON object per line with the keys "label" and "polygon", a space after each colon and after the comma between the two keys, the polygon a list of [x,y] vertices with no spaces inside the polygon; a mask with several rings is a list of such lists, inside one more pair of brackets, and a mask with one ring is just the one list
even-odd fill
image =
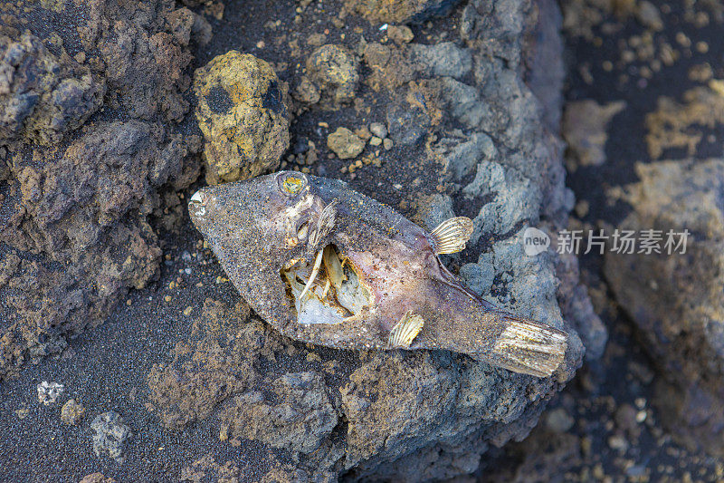
{"label": "yellowish porous rock with two dark spots above the fish's head", "polygon": [[287,84],[269,63],[248,53],[224,53],[196,70],[194,92],[209,184],[279,167],[289,148],[291,113]]}

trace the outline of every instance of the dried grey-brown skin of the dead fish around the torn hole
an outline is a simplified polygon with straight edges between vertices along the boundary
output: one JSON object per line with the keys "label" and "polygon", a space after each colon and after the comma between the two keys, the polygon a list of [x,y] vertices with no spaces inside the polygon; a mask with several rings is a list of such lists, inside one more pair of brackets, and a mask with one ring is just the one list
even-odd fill
{"label": "dried grey-brown skin of the dead fish around the torn hole", "polygon": [[[281,188],[290,179],[293,189],[303,184],[294,195]],[[319,217],[330,204],[324,219],[329,225],[333,208],[333,224],[318,230]],[[467,353],[538,377],[550,375],[564,359],[567,333],[482,300],[443,266],[422,227],[343,181],[281,171],[202,188],[189,202],[189,213],[243,298],[293,339],[338,349],[395,349],[388,335],[410,311],[423,317],[424,326],[409,349]],[[306,239],[295,240],[297,233],[306,233]],[[340,324],[300,324],[281,269],[298,258],[312,263],[329,244],[362,274],[375,302]],[[520,327],[522,331],[513,330]],[[529,329],[552,338],[555,354],[546,353],[544,343],[545,360],[538,361],[540,349]],[[510,350],[506,341],[533,349],[518,356],[519,347]],[[533,362],[519,363],[530,357]]]}

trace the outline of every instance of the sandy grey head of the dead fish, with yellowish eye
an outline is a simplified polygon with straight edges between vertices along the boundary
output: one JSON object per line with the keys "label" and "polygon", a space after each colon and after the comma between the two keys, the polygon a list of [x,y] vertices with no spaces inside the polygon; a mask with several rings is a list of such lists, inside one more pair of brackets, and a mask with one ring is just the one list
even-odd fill
{"label": "sandy grey head of the dead fish, with yellowish eye", "polygon": [[226,274],[277,326],[297,321],[282,271],[311,266],[334,235],[338,200],[314,179],[281,171],[201,188],[189,200],[189,215]]}

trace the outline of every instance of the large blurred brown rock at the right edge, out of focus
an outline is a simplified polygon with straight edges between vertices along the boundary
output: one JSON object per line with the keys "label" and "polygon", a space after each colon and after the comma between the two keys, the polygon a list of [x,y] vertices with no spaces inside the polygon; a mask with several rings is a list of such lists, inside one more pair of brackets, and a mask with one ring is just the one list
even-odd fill
{"label": "large blurred brown rock at the right edge, out of focus", "polygon": [[[605,275],[661,368],[658,403],[672,434],[691,447],[724,454],[724,159],[636,166],[626,189],[632,212],[622,230],[652,233],[661,253],[607,251]],[[667,233],[689,230],[685,246]],[[669,251],[672,251],[669,254]],[[681,252],[684,253],[681,253]]]}

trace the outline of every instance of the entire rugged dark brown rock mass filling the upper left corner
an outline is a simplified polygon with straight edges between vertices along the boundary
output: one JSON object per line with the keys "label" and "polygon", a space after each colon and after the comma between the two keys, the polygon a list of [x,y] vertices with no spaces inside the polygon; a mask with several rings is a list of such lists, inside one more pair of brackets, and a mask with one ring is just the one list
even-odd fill
{"label": "entire rugged dark brown rock mass filling the upper left corner", "polygon": [[208,24],[170,0],[66,4],[5,3],[0,22],[0,378],[157,275],[148,219],[175,227],[180,199],[159,195],[198,176],[198,137],[169,121]]}

